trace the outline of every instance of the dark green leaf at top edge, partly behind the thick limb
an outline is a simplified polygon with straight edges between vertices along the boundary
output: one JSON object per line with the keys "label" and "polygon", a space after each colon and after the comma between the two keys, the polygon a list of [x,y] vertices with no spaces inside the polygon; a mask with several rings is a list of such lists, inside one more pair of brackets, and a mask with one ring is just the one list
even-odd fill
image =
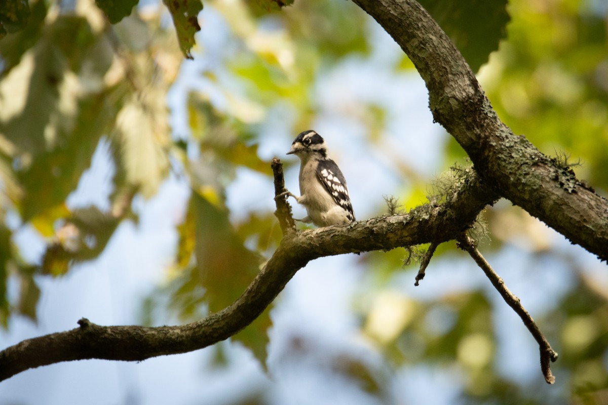
{"label": "dark green leaf at top edge, partly behind the thick limb", "polygon": [[420,0],[449,35],[473,72],[488,61],[506,37],[507,0]]}

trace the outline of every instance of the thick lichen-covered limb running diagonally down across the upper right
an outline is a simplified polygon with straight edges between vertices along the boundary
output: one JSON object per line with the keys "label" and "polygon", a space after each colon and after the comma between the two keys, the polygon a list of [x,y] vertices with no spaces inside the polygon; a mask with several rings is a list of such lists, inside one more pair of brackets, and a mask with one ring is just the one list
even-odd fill
{"label": "thick lichen-covered limb running diagonally down across the upper right", "polygon": [[437,22],[415,0],[353,0],[395,39],[429,89],[435,121],[482,179],[574,243],[608,260],[608,201],[511,132]]}

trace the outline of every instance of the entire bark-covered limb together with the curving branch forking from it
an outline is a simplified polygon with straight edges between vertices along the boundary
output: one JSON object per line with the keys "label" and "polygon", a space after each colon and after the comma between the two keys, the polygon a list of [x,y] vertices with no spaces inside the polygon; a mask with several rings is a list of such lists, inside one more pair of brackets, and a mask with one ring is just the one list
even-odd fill
{"label": "entire bark-covered limb together with the curving branch forking from it", "polygon": [[[277,199],[284,239],[229,307],[173,327],[102,327],[81,319],[74,330],[28,339],[0,352],[0,379],[60,361],[139,361],[207,347],[250,324],[309,260],[456,239],[498,197],[522,206],[601,259],[608,257],[607,201],[499,120],[465,60],[424,9],[413,0],[353,1],[413,61],[429,89],[435,120],[463,146],[477,172],[467,173],[441,205],[312,231],[295,232],[288,205]],[[274,163],[277,194],[282,189],[279,168],[280,163]]]}

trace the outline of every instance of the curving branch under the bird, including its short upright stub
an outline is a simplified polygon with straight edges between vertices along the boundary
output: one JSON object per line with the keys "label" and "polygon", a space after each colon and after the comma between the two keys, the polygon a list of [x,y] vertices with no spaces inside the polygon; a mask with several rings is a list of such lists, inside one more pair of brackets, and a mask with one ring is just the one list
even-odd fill
{"label": "curving branch under the bird, including its short upright stub", "polygon": [[[274,162],[275,189],[282,191],[282,164]],[[34,367],[61,361],[109,359],[141,361],[191,352],[223,341],[249,325],[310,260],[335,254],[389,250],[432,240],[455,239],[497,196],[470,171],[449,202],[424,205],[407,214],[372,218],[346,226],[292,231],[263,270],[232,305],[201,321],[181,326],[100,326],[87,319],[80,327],[27,339],[0,352],[0,381]],[[277,216],[286,208],[277,199]],[[288,221],[285,221],[288,224]]]}

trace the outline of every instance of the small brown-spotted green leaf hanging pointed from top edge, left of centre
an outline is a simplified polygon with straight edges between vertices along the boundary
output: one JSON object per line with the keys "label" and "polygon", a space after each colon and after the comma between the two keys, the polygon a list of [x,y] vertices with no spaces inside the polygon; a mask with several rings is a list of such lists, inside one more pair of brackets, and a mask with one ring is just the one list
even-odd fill
{"label": "small brown-spotted green leaf hanging pointed from top edge, left of centre", "polygon": [[167,6],[173,25],[178,33],[179,47],[184,56],[188,59],[192,58],[190,49],[195,44],[194,35],[201,30],[198,25],[198,13],[202,10],[201,0],[162,0]]}

